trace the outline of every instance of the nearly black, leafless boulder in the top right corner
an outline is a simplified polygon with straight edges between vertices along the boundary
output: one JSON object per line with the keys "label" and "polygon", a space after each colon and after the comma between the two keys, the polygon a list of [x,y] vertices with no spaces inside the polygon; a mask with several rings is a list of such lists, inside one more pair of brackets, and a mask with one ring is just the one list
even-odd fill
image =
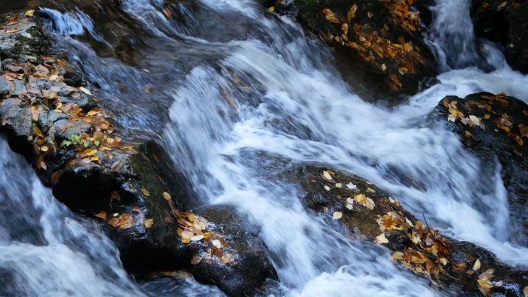
{"label": "nearly black, leafless boulder in the top right corner", "polygon": [[503,45],[508,64],[524,74],[528,73],[527,18],[527,1],[472,1],[476,35]]}

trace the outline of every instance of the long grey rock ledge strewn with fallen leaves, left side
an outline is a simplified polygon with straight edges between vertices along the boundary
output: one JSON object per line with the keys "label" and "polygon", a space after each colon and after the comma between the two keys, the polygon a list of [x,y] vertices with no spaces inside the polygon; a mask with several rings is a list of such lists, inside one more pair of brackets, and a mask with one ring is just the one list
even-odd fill
{"label": "long grey rock ledge strewn with fallen leaves, left side", "polygon": [[0,132],[57,199],[102,223],[127,270],[187,270],[230,296],[276,278],[259,230],[236,210],[183,211],[185,178],[166,180],[162,148],[116,124],[80,72],[46,56],[38,12],[2,22]]}

